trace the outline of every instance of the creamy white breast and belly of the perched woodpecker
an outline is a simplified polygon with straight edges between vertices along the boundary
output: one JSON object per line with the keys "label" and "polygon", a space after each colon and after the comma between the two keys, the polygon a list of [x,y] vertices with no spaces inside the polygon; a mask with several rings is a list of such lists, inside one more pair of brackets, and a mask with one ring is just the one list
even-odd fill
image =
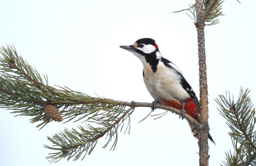
{"label": "creamy white breast and belly of the perched woodpecker", "polygon": [[157,71],[154,73],[146,61],[142,59],[141,61],[145,75],[144,83],[155,100],[161,102],[161,99],[176,99],[180,101],[189,97],[180,83],[180,75],[175,70],[166,67],[163,62],[159,61]]}

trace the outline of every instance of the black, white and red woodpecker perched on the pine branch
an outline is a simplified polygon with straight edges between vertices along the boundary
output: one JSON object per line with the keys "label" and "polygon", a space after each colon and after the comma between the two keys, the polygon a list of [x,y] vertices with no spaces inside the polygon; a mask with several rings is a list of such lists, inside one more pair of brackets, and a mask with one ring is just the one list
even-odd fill
{"label": "black, white and red woodpecker perched on the pine branch", "polygon": [[[143,80],[147,90],[155,99],[155,104],[161,103],[181,110],[182,119],[187,113],[198,122],[199,102],[195,92],[188,84],[181,70],[160,54],[155,40],[143,38],[137,40],[133,45],[120,46],[138,57],[143,64]],[[196,128],[189,123],[191,132],[198,139]],[[211,135],[208,138],[215,144]]]}

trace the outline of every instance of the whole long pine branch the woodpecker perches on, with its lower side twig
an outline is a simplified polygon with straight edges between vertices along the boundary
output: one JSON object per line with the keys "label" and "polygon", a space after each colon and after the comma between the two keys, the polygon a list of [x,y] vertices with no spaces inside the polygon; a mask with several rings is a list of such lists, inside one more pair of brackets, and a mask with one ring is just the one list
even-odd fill
{"label": "whole long pine branch the woodpecker perches on, with its lower side twig", "polygon": [[[111,147],[114,150],[119,128],[122,131],[124,123],[128,122],[125,132],[128,128],[130,131],[130,115],[134,108],[151,107],[151,103],[91,97],[67,87],[57,86],[60,89],[51,87],[48,85],[47,75],[44,76],[45,81],[43,81],[36,69],[18,56],[14,47],[2,47],[0,53],[3,56],[0,57],[0,108],[11,109],[13,110],[11,113],[18,113],[20,116],[32,116],[31,122],[41,121],[36,126],[41,128],[53,121],[52,117],[47,117],[44,113],[46,105],[52,105],[51,109],[54,111],[56,108],[63,117],[61,119],[64,123],[71,120],[86,122],[85,126],[78,126],[79,130],[72,128],[70,131],[66,128],[63,132],[47,137],[53,145],[44,145],[44,147],[57,151],[46,157],[51,162],[57,162],[62,158],[77,160],[84,155],[83,160],[103,136],[108,138],[103,147],[105,148],[114,139]],[[180,115],[180,110],[169,106],[157,104],[156,108],[167,110],[164,115],[169,111]],[[187,114],[184,118],[198,130],[200,129],[201,125],[195,119]]]}

